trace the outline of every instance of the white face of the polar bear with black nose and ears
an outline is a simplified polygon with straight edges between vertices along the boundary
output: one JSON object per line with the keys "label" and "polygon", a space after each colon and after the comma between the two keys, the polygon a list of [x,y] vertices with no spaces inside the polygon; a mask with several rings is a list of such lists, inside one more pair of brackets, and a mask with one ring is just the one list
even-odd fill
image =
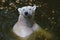
{"label": "white face of the polar bear with black nose and ears", "polygon": [[22,8],[18,8],[18,12],[20,15],[25,17],[31,17],[34,15],[34,12],[36,10],[36,6],[24,6]]}

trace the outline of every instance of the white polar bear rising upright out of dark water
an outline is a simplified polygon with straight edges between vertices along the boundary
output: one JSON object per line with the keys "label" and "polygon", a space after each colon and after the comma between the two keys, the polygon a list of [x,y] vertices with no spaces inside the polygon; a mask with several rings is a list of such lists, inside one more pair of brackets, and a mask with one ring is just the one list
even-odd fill
{"label": "white polar bear rising upright out of dark water", "polygon": [[32,33],[41,29],[34,21],[36,7],[37,6],[34,5],[18,8],[19,18],[13,27],[13,32],[20,38],[23,38],[22,40],[27,40]]}

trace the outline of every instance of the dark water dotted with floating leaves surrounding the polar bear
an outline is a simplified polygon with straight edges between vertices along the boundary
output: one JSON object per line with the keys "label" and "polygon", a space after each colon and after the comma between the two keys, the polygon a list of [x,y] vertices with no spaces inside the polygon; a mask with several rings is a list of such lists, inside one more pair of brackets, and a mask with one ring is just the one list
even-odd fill
{"label": "dark water dotted with floating leaves surrounding the polar bear", "polygon": [[0,0],[0,40],[14,40],[10,36],[17,22],[17,8],[37,5],[35,21],[53,33],[53,40],[60,40],[60,0]]}

